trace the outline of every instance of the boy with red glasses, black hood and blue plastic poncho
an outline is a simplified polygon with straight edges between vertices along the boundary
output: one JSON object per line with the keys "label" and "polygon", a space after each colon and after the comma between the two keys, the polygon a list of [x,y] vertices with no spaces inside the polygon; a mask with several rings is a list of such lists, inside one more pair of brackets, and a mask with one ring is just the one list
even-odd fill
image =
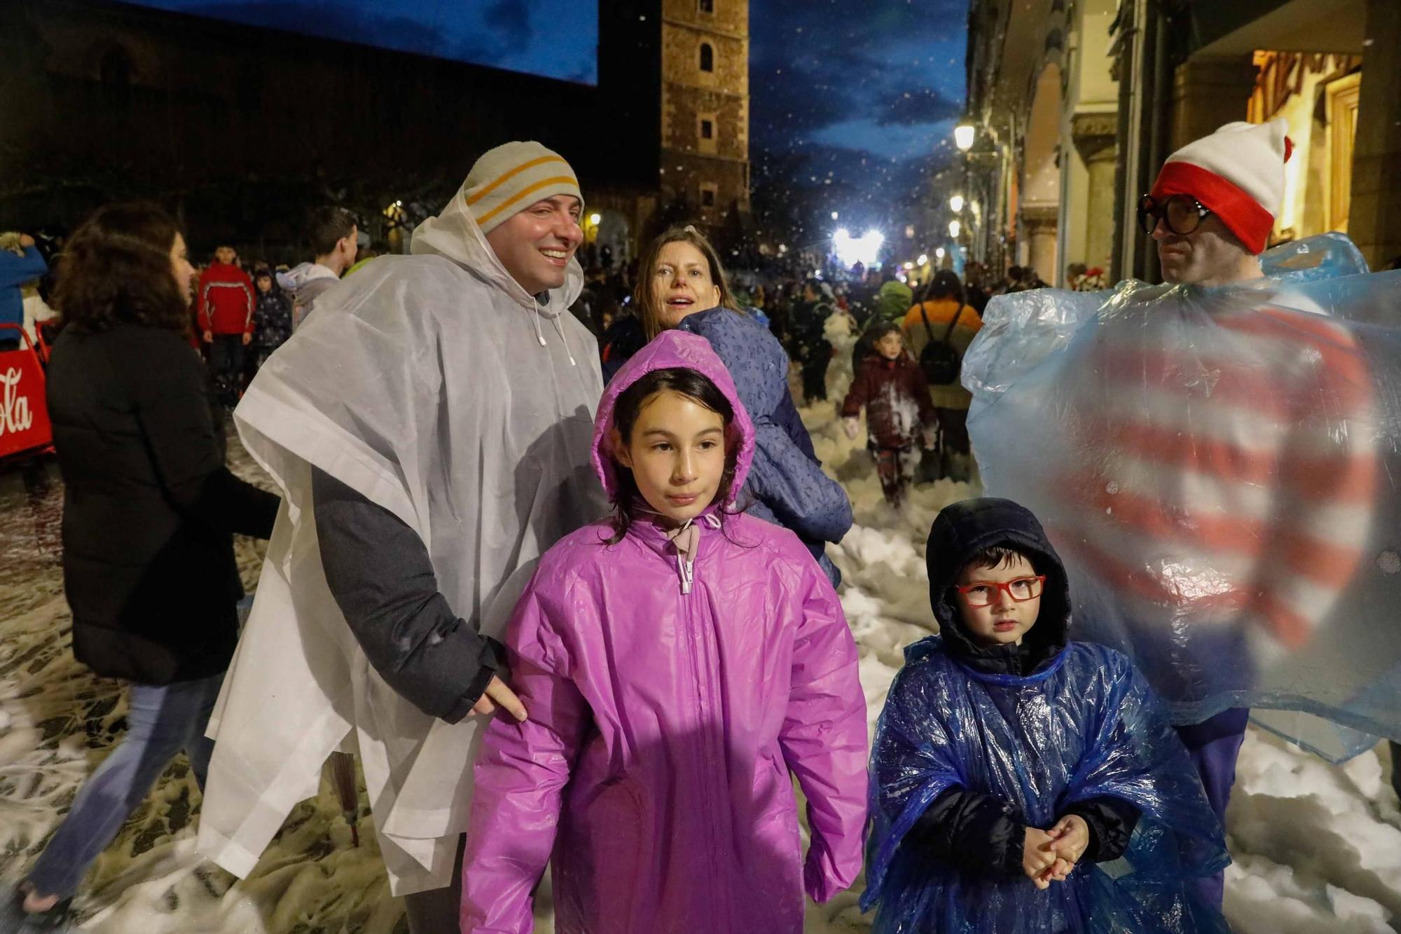
{"label": "boy with red glasses, black hood and blue plastic poncho", "polygon": [[877,933],[1227,931],[1185,881],[1222,827],[1118,652],[1069,642],[1065,568],[1007,499],[929,532],[940,635],[905,651],[871,752]]}

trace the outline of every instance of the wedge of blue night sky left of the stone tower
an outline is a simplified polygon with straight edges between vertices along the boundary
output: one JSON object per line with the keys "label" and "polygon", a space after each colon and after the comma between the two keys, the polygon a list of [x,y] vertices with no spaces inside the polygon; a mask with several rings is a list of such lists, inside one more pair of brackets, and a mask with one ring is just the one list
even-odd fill
{"label": "wedge of blue night sky left of the stone tower", "polygon": [[598,83],[590,0],[127,0],[510,72]]}

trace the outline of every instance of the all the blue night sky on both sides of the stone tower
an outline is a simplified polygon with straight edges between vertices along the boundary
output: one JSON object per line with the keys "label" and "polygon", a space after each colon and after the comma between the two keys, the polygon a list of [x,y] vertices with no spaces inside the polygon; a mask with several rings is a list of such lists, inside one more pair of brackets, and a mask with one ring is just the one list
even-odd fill
{"label": "all the blue night sky on both sides of the stone tower", "polygon": [[[129,1],[598,80],[595,0]],[[793,195],[806,217],[838,210],[853,230],[915,220],[932,172],[954,156],[967,15],[968,0],[751,0],[755,208]]]}

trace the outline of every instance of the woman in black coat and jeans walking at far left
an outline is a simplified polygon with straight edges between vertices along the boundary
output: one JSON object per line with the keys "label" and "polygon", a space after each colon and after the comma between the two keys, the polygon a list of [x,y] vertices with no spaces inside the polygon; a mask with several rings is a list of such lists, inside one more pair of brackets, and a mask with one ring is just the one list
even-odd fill
{"label": "woman in black coat and jeans walking at far left", "polygon": [[59,266],[48,405],[73,652],[132,684],[126,736],[21,885],[31,920],[63,912],[175,753],[203,787],[205,725],[238,639],[233,533],[266,539],[277,512],[224,467],[188,341],[192,278],[184,237],[149,205],[98,210]]}

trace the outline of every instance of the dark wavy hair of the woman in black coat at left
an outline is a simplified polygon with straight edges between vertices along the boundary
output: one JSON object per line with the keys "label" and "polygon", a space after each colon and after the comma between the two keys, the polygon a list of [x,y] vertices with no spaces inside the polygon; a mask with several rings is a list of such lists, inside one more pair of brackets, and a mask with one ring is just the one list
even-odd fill
{"label": "dark wavy hair of the woman in black coat at left", "polygon": [[53,302],[64,323],[84,331],[149,324],[189,332],[189,295],[171,271],[178,233],[171,216],[151,203],[99,208],[59,259]]}

